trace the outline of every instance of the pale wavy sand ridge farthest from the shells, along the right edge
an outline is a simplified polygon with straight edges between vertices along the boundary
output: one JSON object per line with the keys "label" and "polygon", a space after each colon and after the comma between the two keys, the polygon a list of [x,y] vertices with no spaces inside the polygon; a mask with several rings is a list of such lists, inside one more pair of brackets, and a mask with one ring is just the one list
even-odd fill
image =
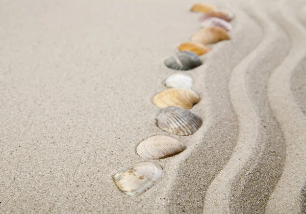
{"label": "pale wavy sand ridge farthest from the shells, along the right edge", "polygon": [[273,72],[268,88],[271,108],[286,141],[285,168],[267,204],[269,213],[300,212],[301,190],[306,181],[306,118],[291,91],[292,74],[306,55],[306,30],[295,17],[296,10],[279,3],[278,12],[273,14],[290,36],[292,47],[288,57]]}

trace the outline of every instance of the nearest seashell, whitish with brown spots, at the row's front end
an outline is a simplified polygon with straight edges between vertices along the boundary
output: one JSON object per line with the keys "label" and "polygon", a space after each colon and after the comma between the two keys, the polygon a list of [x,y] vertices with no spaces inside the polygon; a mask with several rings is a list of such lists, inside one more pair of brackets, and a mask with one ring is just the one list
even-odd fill
{"label": "nearest seashell, whitish with brown spots, at the row's front end", "polygon": [[158,164],[144,162],[116,173],[114,181],[124,194],[135,197],[150,189],[161,174]]}

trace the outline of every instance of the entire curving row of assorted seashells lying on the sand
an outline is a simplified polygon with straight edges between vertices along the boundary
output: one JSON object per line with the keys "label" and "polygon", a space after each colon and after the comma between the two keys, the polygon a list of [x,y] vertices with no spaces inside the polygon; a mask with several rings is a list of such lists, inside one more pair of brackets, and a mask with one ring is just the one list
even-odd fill
{"label": "entire curving row of assorted seashells lying on the sand", "polygon": [[[190,70],[202,65],[199,56],[212,50],[208,44],[228,40],[227,32],[232,29],[228,22],[233,17],[230,13],[219,11],[214,6],[195,4],[192,12],[204,13],[200,17],[203,29],[191,37],[191,42],[182,43],[173,57],[165,60],[168,68]],[[154,96],[152,102],[159,108],[157,126],[162,130],[179,136],[193,135],[202,120],[189,109],[200,101],[191,90],[192,77],[186,73],[170,75],[165,86],[168,88]],[[136,148],[137,154],[147,159],[161,159],[184,151],[186,146],[170,136],[153,136],[142,141]],[[139,196],[151,188],[162,174],[162,168],[151,162],[143,162],[121,170],[113,178],[118,188],[129,196]]]}

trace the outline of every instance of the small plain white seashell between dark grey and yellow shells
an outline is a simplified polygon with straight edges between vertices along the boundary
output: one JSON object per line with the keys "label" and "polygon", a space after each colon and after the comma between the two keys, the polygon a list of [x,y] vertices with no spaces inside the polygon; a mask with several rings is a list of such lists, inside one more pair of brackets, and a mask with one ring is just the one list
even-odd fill
{"label": "small plain white seashell between dark grey and yellow shells", "polygon": [[186,73],[174,73],[167,77],[165,85],[168,88],[192,88],[192,78]]}

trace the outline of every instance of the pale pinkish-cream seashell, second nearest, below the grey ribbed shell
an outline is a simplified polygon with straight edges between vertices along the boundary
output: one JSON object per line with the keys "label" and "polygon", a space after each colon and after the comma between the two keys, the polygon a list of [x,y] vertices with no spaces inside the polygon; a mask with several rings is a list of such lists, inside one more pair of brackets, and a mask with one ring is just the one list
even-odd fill
{"label": "pale pinkish-cream seashell, second nearest, below the grey ribbed shell", "polygon": [[154,136],[142,141],[137,146],[137,154],[144,158],[161,159],[185,150],[185,145],[169,136]]}

